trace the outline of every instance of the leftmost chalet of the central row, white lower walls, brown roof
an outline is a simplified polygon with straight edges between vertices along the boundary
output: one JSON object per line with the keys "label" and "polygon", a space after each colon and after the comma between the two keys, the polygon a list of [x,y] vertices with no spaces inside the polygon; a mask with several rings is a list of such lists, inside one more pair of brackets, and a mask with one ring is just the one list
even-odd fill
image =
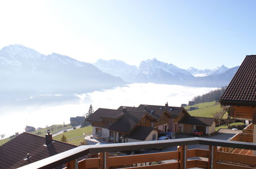
{"label": "leftmost chalet of the central row, white lower walls, brown roof", "polygon": [[87,121],[92,123],[92,135],[112,142],[148,141],[157,139],[151,128],[152,117],[145,112],[98,109]]}

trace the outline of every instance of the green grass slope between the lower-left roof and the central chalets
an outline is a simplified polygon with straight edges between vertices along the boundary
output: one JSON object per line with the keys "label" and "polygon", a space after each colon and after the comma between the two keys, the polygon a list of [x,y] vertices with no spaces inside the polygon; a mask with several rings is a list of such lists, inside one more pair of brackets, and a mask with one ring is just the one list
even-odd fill
{"label": "green grass slope between the lower-left roof and the central chalets", "polygon": [[[65,135],[67,137],[68,143],[80,145],[80,140],[81,141],[84,140],[84,137],[81,137],[81,136],[83,136],[83,133],[91,132],[91,131],[92,131],[92,126],[87,126],[85,128],[75,129],[75,130],[71,130],[66,133],[57,135],[57,136],[53,137],[53,139],[61,140],[62,136]],[[78,138],[76,138],[76,137],[78,137]],[[72,139],[72,140],[69,140],[69,139]]]}

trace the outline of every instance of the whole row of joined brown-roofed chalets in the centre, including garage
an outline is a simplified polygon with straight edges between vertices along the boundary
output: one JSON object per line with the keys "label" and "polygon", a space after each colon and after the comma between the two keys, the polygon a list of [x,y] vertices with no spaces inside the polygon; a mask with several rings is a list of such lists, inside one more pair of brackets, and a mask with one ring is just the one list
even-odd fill
{"label": "whole row of joined brown-roofed chalets in the centre, including garage", "polygon": [[92,123],[92,135],[111,142],[133,142],[157,139],[158,132],[184,132],[195,129],[209,135],[215,131],[214,118],[191,117],[181,107],[140,104],[121,106],[117,110],[98,109],[86,119]]}

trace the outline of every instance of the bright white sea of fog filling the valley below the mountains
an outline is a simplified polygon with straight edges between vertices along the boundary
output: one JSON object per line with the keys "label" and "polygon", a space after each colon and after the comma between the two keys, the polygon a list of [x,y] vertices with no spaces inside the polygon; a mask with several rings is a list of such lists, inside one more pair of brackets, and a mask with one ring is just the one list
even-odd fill
{"label": "bright white sea of fog filling the valley below the mountains", "polygon": [[[194,96],[205,94],[216,88],[198,88],[155,83],[132,83],[125,87],[73,95],[35,95],[18,98],[22,104],[0,107],[0,134],[6,137],[15,132],[22,133],[26,125],[45,128],[46,125],[70,123],[70,117],[83,116],[90,104],[98,108],[117,109],[120,105],[140,104],[180,106]],[[25,100],[25,101],[24,101]],[[34,104],[36,102],[36,104]]]}

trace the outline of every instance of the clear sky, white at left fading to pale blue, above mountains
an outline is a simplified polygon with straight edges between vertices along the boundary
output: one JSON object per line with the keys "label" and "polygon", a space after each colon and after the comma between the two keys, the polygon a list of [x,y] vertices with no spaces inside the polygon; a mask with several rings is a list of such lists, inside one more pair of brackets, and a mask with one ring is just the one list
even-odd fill
{"label": "clear sky, white at left fading to pale blue, above mountains", "polygon": [[256,54],[255,1],[1,1],[0,49],[229,68]]}

